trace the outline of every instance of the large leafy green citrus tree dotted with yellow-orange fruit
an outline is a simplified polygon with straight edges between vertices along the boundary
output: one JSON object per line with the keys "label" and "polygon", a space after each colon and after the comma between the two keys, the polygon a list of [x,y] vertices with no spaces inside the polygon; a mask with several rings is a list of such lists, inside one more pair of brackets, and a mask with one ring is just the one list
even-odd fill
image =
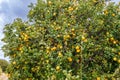
{"label": "large leafy green citrus tree dotted with yellow-orange fruit", "polygon": [[[100,80],[120,66],[120,8],[104,0],[38,0],[4,28],[10,80]],[[110,75],[110,76],[109,76]]]}

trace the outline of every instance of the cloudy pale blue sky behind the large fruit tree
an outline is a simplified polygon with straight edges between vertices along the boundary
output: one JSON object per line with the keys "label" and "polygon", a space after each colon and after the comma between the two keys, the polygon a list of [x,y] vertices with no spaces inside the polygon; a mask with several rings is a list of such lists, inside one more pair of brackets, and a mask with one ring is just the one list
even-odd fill
{"label": "cloudy pale blue sky behind the large fruit tree", "polygon": [[[120,0],[112,0],[119,2]],[[7,23],[11,23],[15,18],[27,19],[27,13],[29,8],[27,7],[30,3],[35,3],[36,0],[0,0],[0,49],[3,43],[3,28]],[[7,59],[4,57],[3,52],[0,50],[0,59]]]}

